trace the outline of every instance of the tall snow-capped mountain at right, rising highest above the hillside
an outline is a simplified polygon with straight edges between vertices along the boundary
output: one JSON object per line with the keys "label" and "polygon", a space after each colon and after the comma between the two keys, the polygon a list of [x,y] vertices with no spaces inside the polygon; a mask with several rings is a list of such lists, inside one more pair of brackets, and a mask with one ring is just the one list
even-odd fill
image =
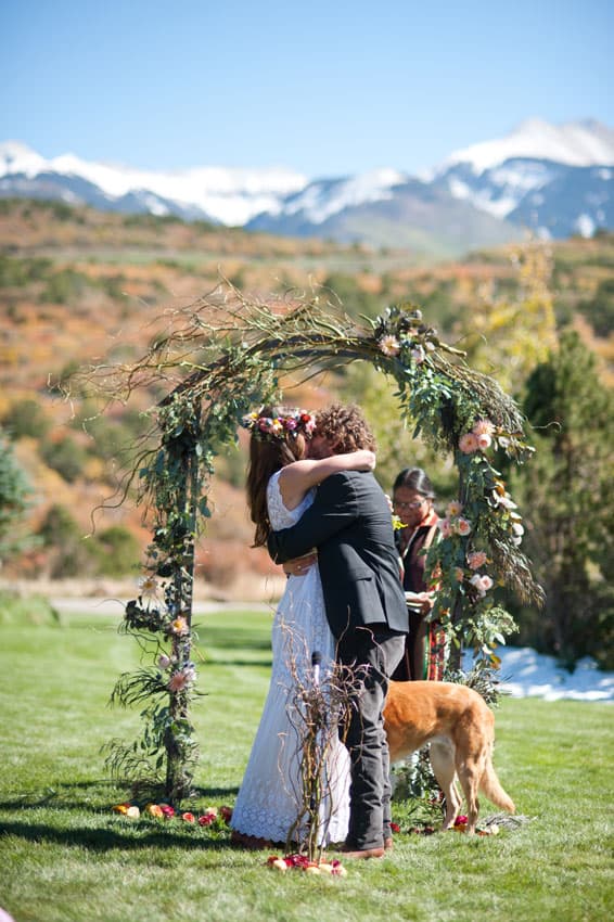
{"label": "tall snow-capped mountain at right, rising highest above the hillside", "polygon": [[421,179],[388,169],[317,180],[248,227],[442,252],[524,230],[590,236],[614,228],[613,164],[614,131],[605,126],[532,119],[506,138],[451,154]]}

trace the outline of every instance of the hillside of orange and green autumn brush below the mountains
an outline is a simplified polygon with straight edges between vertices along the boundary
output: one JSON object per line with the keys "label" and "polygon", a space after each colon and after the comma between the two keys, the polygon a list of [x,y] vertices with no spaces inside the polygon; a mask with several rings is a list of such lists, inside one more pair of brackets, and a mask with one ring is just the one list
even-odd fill
{"label": "hillside of orange and green autumn brush below the mountains", "polygon": [[[149,532],[133,489],[118,505],[117,488],[146,428],[141,412],[161,395],[137,395],[98,417],[90,401],[62,399],[57,383],[84,363],[136,358],[164,311],[212,291],[220,278],[265,300],[323,286],[355,316],[413,300],[448,341],[471,345],[476,330],[483,341],[494,329],[497,305],[521,297],[522,258],[508,248],[430,266],[405,251],[0,201],[0,424],[31,485],[23,547],[4,563],[4,579],[136,575]],[[580,331],[611,381],[614,238],[558,243],[546,258],[555,324]],[[484,318],[490,326],[483,329]],[[317,381],[294,399],[320,406],[337,385]],[[216,515],[201,541],[199,573],[220,596],[245,597],[276,573],[264,552],[248,548],[243,436],[242,446],[219,459]],[[84,540],[92,514],[95,529]]]}

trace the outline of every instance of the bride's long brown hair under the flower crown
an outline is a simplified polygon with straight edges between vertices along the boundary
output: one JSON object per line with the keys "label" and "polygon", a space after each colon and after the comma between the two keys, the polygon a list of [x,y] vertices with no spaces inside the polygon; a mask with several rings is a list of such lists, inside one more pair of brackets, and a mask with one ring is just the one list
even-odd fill
{"label": "bride's long brown hair under the flower crown", "polygon": [[[285,417],[294,411],[287,407],[263,407],[260,417]],[[305,458],[307,443],[302,432],[284,433],[280,437],[259,438],[252,433],[250,438],[250,466],[247,469],[247,505],[252,522],[256,526],[252,547],[267,543],[271,530],[267,509],[267,486],[277,471]]]}

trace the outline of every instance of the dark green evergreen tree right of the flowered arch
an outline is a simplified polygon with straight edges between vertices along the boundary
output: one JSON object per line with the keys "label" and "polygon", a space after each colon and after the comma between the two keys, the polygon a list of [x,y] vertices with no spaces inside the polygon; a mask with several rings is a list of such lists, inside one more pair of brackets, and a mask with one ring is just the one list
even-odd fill
{"label": "dark green evergreen tree right of the flowered arch", "polygon": [[546,593],[542,612],[520,612],[522,638],[567,664],[590,654],[614,666],[614,400],[593,354],[565,332],[525,388],[535,459],[513,475],[525,543]]}

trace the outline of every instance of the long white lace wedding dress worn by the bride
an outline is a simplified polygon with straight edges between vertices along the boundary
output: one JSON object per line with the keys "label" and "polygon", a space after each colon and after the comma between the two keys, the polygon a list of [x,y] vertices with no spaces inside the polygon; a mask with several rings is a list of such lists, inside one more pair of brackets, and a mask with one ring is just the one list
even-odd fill
{"label": "long white lace wedding dress worn by the bride", "polygon": [[[267,488],[269,521],[274,530],[294,525],[311,504],[305,496],[296,509],[284,507],[279,473]],[[311,674],[311,654],[322,655],[321,680],[334,661],[334,638],[327,620],[318,567],[305,576],[291,576],[272,627],[272,671],[269,693],[254,740],[245,776],[232,811],[231,825],[246,835],[285,842],[300,811],[299,725],[293,697],[295,670],[300,679]],[[293,663],[291,670],[290,664]],[[329,794],[320,814],[320,844],[343,842],[349,819],[349,756],[334,738],[327,765]],[[304,831],[303,831],[304,832]]]}

